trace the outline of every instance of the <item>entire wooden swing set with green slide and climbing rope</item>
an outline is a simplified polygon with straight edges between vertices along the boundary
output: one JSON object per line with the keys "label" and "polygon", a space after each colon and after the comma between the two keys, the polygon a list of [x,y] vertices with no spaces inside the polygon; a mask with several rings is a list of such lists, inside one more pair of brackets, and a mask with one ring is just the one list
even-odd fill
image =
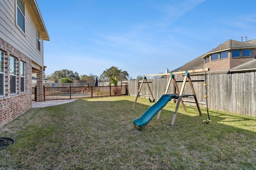
{"label": "entire wooden swing set with green slide and climbing rope", "polygon": [[[210,120],[209,113],[208,113],[208,103],[207,103],[207,97],[208,97],[207,96],[207,86],[208,86],[208,84],[206,82],[206,71],[208,71],[208,68],[198,69],[198,70],[188,70],[188,71],[182,71],[182,72],[171,72],[171,73],[145,75],[143,80],[142,80],[142,83],[140,84],[140,88],[138,90],[138,94],[136,96],[136,99],[135,99],[135,102],[134,102],[134,105],[133,105],[132,109],[134,109],[134,107],[135,107],[136,101],[138,99],[138,96],[140,95],[140,90],[142,88],[142,85],[144,84],[144,81],[146,82],[146,84],[148,86],[148,89],[149,89],[149,92],[150,92],[150,95],[153,98],[153,100],[151,100],[150,97],[149,97],[149,100],[150,100],[150,102],[154,102],[155,104],[153,104],[151,107],[149,107],[142,114],[141,117],[139,117],[138,119],[134,119],[134,121],[133,121],[134,127],[136,125],[139,126],[140,127],[140,131],[142,131],[142,127],[146,126],[148,124],[148,122],[156,115],[156,113],[158,113],[157,119],[159,119],[161,111],[163,110],[163,107],[166,106],[166,104],[168,102],[170,102],[172,99],[176,99],[177,100],[177,104],[176,104],[176,108],[175,108],[174,115],[173,115],[173,118],[172,118],[172,123],[171,123],[171,125],[174,125],[175,120],[176,120],[176,116],[177,116],[177,112],[178,112],[178,108],[180,106],[180,103],[182,103],[182,107],[183,107],[184,111],[186,112],[186,108],[184,106],[182,98],[188,98],[189,96],[193,96],[194,97],[194,100],[195,100],[195,103],[196,103],[199,115],[202,116],[202,112],[201,112],[201,109],[199,107],[198,100],[196,98],[196,93],[195,93],[192,81],[190,79],[190,74],[189,74],[189,73],[196,73],[196,72],[205,72],[205,84],[204,84],[204,86],[206,87],[206,95],[204,97],[206,97],[206,109],[207,109],[208,119],[207,119],[207,121],[203,120],[203,122],[208,124],[211,120]],[[175,74],[184,74],[184,80],[182,82],[182,86],[181,86],[180,91],[178,89],[178,85],[177,85],[176,80],[174,78]],[[150,77],[150,76],[167,76],[167,75],[170,75],[170,78],[168,80],[168,84],[167,84],[166,90],[164,92],[164,95],[162,95],[160,97],[160,99],[157,102],[155,102],[155,99],[153,97],[152,91],[150,89],[150,86],[148,84],[148,80],[147,80],[146,77],[147,76],[148,77]],[[192,94],[183,94],[184,87],[185,87],[185,84],[186,84],[187,81],[189,82],[190,88],[192,90]],[[174,83],[175,90],[176,90],[176,92],[178,94],[176,94],[176,93],[175,94],[167,94],[171,82]],[[166,110],[166,111],[168,111],[168,110]]]}

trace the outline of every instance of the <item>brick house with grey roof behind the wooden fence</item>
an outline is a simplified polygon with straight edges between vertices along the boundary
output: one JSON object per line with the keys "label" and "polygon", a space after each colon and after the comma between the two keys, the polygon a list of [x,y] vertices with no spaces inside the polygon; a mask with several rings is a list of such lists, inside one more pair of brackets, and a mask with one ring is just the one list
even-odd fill
{"label": "brick house with grey roof behind the wooden fence", "polygon": [[256,70],[256,39],[240,42],[229,39],[208,53],[172,72],[209,68],[209,74]]}

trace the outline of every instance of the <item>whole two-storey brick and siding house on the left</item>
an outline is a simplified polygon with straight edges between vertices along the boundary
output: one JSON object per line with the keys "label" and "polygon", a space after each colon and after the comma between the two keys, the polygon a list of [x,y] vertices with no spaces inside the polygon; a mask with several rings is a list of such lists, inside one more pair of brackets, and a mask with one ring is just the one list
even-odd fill
{"label": "whole two-storey brick and siding house on the left", "polygon": [[36,0],[0,1],[0,127],[32,107],[32,73],[43,101],[43,40],[49,36]]}

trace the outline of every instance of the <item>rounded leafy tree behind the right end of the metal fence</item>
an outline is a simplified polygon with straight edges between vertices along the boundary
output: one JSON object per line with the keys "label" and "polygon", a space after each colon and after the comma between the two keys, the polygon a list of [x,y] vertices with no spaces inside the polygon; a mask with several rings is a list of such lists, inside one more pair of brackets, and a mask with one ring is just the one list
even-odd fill
{"label": "rounded leafy tree behind the right end of the metal fence", "polygon": [[129,74],[127,71],[122,71],[122,69],[118,69],[118,67],[110,67],[106,69],[101,75],[100,79],[110,81],[110,77],[117,77],[118,80],[128,80]]}

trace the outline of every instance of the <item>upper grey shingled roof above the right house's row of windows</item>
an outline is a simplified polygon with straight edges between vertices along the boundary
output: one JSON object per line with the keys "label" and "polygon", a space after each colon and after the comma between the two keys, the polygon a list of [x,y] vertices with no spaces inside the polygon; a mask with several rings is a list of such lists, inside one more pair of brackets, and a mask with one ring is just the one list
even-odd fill
{"label": "upper grey shingled roof above the right house's row of windows", "polygon": [[240,41],[235,41],[235,40],[229,39],[225,43],[220,44],[218,47],[216,47],[212,51],[203,55],[202,58],[205,58],[206,56],[208,56],[212,53],[217,53],[220,51],[227,51],[230,49],[246,49],[246,48],[254,48],[254,47],[256,47],[256,39],[253,39],[253,40],[250,40],[247,42],[240,42]]}

